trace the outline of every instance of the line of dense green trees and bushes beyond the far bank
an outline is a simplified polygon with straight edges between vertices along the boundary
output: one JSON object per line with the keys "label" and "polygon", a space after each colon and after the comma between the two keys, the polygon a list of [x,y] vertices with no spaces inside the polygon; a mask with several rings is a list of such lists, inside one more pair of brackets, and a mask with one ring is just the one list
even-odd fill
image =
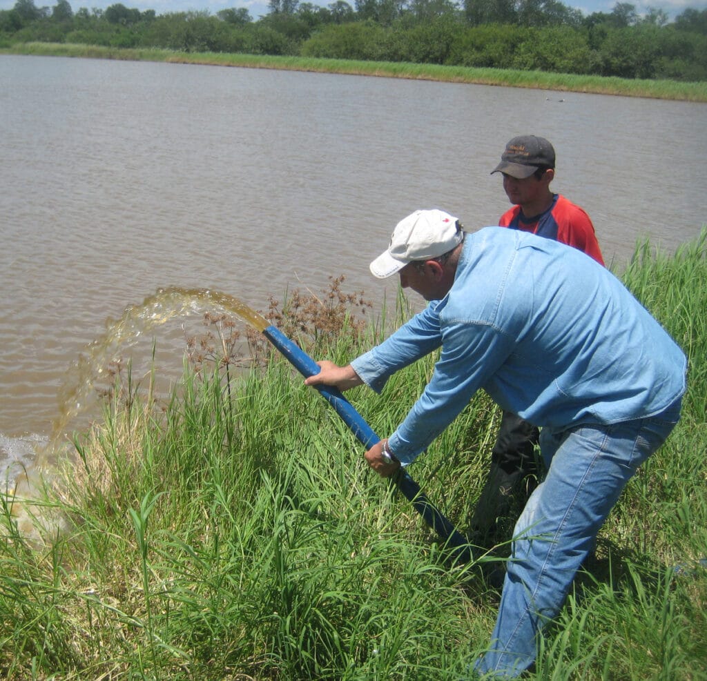
{"label": "line of dense green trees and bushes beyond the far bank", "polygon": [[670,21],[626,2],[588,16],[559,0],[269,0],[257,20],[243,7],[74,12],[68,0],[0,11],[0,47],[34,41],[707,80],[707,10]]}

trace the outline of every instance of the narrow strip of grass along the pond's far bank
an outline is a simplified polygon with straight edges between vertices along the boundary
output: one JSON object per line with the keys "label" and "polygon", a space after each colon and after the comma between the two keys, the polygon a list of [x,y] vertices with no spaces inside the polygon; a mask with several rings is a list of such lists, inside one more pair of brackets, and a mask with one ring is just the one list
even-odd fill
{"label": "narrow strip of grass along the pond's far bank", "polygon": [[269,57],[252,54],[172,52],[166,49],[122,49],[95,45],[32,42],[0,49],[0,54],[37,54],[57,57],[88,57],[91,59],[127,59],[136,61],[167,61],[179,64],[210,64],[240,66],[250,69],[289,69],[320,73],[346,73],[357,76],[412,78],[449,83],[505,85],[513,88],[535,88],[559,92],[652,97],[664,100],[707,102],[707,83],[677,81],[629,80],[576,76],[542,71],[510,71],[503,69],[472,69],[464,66],[407,64],[383,61],[349,61],[344,59],[314,59],[305,57]]}

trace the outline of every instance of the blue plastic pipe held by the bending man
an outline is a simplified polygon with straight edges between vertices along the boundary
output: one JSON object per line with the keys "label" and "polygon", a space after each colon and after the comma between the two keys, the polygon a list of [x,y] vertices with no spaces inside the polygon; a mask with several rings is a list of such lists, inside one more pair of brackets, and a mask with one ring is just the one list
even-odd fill
{"label": "blue plastic pipe held by the bending man", "polygon": [[[286,357],[288,362],[295,367],[305,378],[320,372],[320,367],[307,353],[293,343],[276,326],[268,326],[263,335]],[[363,417],[354,409],[351,403],[341,394],[341,391],[331,386],[315,386],[322,397],[339,414],[358,441],[370,449],[380,442],[380,437],[363,420]],[[391,476],[397,488],[404,497],[412,503],[414,509],[423,517],[425,522],[438,534],[445,544],[454,550],[456,562],[469,562],[472,559],[471,547],[464,536],[443,516],[437,507],[420,490],[419,485],[400,468]]]}

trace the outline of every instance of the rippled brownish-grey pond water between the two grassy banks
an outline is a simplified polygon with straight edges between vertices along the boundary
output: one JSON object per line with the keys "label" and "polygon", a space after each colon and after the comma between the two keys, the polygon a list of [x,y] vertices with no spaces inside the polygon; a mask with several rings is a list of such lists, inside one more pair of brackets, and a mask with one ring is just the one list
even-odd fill
{"label": "rippled brownish-grey pond water between the two grassy banks", "polygon": [[[265,309],[329,277],[380,303],[398,220],[508,208],[506,141],[554,143],[555,191],[607,262],[705,222],[707,105],[390,78],[0,56],[0,470],[31,460],[106,319],[158,288]],[[180,328],[158,340],[182,366]]]}

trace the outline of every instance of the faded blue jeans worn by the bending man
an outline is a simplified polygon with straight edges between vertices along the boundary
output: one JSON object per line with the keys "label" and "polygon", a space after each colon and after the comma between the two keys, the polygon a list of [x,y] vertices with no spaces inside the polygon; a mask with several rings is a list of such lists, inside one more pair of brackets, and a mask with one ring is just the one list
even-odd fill
{"label": "faded blue jeans worn by the bending man", "polygon": [[515,525],[496,627],[477,672],[512,678],[532,665],[539,632],[558,615],[626,482],[674,428],[680,403],[652,418],[542,430],[547,475]]}

